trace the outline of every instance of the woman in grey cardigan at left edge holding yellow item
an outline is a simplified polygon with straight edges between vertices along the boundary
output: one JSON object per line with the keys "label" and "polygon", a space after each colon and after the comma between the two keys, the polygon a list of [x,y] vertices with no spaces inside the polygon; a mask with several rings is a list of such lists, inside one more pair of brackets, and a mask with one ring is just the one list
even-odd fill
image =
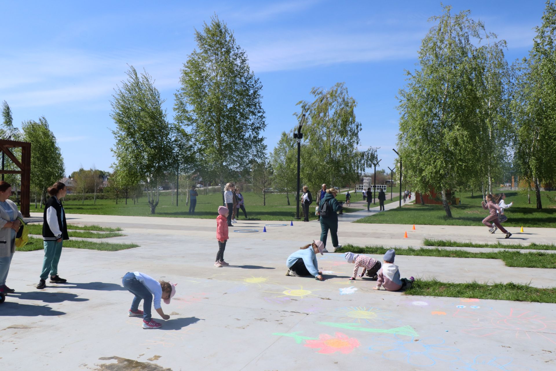
{"label": "woman in grey cardigan at left edge holding yellow item", "polygon": [[[12,264],[13,254],[16,252],[16,234],[21,226],[23,215],[17,210],[17,205],[8,197],[12,195],[12,186],[8,182],[0,181],[0,293],[11,294],[14,289],[6,286],[9,266]],[[21,220],[20,220],[21,219]]]}

